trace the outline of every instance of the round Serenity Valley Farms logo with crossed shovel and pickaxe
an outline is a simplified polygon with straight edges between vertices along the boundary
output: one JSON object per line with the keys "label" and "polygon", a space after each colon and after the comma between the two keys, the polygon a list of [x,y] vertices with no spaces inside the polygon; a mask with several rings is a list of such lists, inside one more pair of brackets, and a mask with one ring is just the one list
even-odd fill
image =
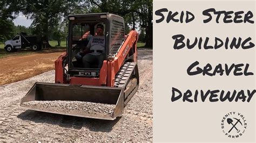
{"label": "round Serenity Valley Farms logo with crossed shovel and pickaxe", "polygon": [[247,121],[239,112],[228,112],[221,119],[221,129],[228,138],[239,138],[245,133]]}

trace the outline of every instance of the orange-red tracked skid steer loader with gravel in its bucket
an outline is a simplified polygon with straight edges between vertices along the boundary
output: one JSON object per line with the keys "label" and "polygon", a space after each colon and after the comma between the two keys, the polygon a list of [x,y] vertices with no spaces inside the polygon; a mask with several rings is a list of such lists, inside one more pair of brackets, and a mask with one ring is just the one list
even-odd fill
{"label": "orange-red tracked skid steer loader with gravel in its bucket", "polygon": [[[55,61],[55,83],[35,83],[22,98],[21,106],[62,115],[114,120],[122,116],[124,106],[138,90],[138,33],[131,30],[125,35],[124,18],[110,13],[68,18],[67,49]],[[105,35],[102,67],[83,67],[83,60],[77,55],[88,44],[98,24],[104,26]]]}

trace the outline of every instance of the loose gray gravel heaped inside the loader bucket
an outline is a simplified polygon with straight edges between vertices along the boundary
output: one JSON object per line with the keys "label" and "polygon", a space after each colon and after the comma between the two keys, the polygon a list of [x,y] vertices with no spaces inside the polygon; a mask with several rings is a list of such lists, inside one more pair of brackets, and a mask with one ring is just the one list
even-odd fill
{"label": "loose gray gravel heaped inside the loader bucket", "polygon": [[31,101],[22,105],[42,111],[63,112],[74,115],[99,115],[112,117],[114,104],[81,102],[81,101]]}

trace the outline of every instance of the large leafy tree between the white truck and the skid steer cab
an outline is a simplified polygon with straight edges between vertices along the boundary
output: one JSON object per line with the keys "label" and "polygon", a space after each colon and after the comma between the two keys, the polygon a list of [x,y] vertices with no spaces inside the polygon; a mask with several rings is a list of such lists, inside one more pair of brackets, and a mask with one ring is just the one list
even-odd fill
{"label": "large leafy tree between the white truck and the skid steer cab", "polygon": [[[63,0],[21,0],[19,8],[25,16],[32,19],[32,33],[41,35],[48,42],[51,31],[56,30],[70,13],[79,9],[80,1]],[[58,31],[58,30],[57,30]],[[59,31],[63,31],[59,29]]]}

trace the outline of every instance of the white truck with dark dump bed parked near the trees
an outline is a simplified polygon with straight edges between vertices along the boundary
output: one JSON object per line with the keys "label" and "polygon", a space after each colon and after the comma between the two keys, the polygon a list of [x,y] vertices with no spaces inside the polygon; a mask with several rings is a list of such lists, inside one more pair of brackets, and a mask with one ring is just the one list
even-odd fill
{"label": "white truck with dark dump bed parked near the trees", "polygon": [[18,33],[14,38],[4,42],[7,52],[15,52],[21,48],[32,48],[34,51],[42,49],[42,40],[37,36],[27,36],[26,33]]}

